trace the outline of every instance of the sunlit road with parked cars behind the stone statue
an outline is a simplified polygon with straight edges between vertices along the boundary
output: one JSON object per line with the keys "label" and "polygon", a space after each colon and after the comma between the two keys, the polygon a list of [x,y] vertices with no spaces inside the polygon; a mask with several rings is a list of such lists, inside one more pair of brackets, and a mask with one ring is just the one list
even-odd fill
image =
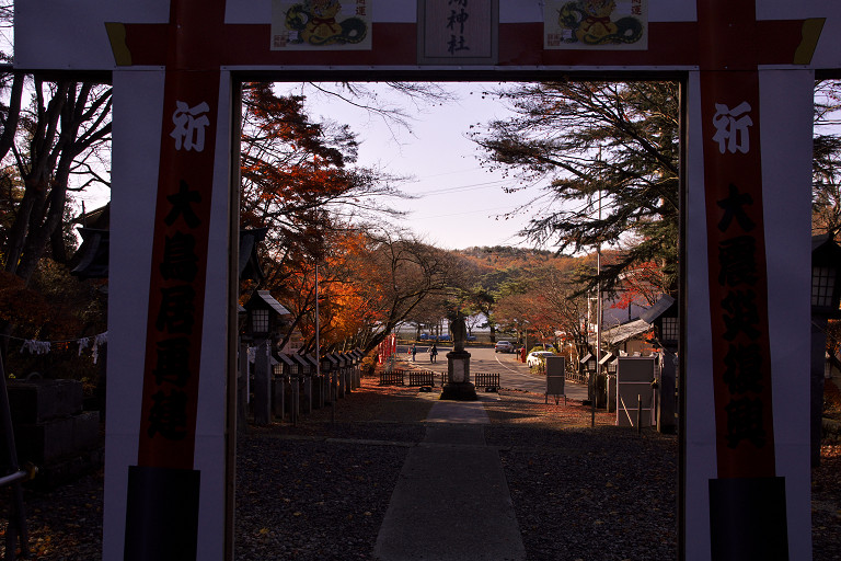
{"label": "sunlit road with parked cars behind the stone statue", "polygon": [[[429,362],[429,347],[417,345],[415,364],[420,368],[434,370],[436,373],[447,371],[447,353],[452,351],[452,346],[438,346],[437,362]],[[516,354],[495,353],[492,347],[468,347],[470,353],[470,371],[499,374],[499,385],[503,388],[511,388],[534,393],[544,393],[546,391],[546,377],[542,374],[532,374],[529,367],[517,359]],[[412,360],[408,354],[408,347],[398,347],[400,359]],[[587,399],[587,387],[581,383],[567,381],[564,387],[566,397],[575,400]]]}

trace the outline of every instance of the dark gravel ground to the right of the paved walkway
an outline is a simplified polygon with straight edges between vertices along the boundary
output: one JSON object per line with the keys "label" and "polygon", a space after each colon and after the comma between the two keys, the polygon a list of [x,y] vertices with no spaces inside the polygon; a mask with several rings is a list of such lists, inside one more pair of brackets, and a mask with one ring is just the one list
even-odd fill
{"label": "dark gravel ground to the right of the paved walkway", "polygon": [[[491,408],[528,559],[677,559],[677,438],[533,394]],[[537,401],[537,402],[535,402]]]}

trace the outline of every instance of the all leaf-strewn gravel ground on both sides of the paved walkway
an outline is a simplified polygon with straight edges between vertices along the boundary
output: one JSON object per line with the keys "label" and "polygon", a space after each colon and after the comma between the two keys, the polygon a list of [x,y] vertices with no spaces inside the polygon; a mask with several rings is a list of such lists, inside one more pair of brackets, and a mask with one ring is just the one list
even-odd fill
{"label": "all leaf-strewn gravel ground on both sides of the paved walkway", "polygon": [[[366,379],[335,412],[250,427],[238,448],[237,559],[371,559],[434,397]],[[590,410],[573,401],[499,397],[486,407],[486,440],[499,449],[530,561],[677,558],[675,436],[619,430],[603,412],[589,428]],[[815,561],[841,560],[840,478],[841,446],[828,442],[814,472]],[[26,507],[33,559],[100,559],[101,472],[49,493],[27,489]],[[4,531],[3,520],[0,542]]]}

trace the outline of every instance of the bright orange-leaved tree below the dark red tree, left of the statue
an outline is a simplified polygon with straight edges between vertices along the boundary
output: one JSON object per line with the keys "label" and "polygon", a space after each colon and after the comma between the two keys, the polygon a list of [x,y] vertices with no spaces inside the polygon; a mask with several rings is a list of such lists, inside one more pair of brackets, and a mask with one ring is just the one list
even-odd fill
{"label": "bright orange-leaved tree below the dark red tree, left of the statue", "polygon": [[[448,290],[458,274],[449,252],[389,232],[334,230],[324,238],[319,266],[320,342],[324,350],[375,348],[422,302]],[[290,260],[277,270],[284,283],[273,294],[292,312],[289,331],[314,350],[313,260]],[[283,346],[289,337],[289,333]]]}

